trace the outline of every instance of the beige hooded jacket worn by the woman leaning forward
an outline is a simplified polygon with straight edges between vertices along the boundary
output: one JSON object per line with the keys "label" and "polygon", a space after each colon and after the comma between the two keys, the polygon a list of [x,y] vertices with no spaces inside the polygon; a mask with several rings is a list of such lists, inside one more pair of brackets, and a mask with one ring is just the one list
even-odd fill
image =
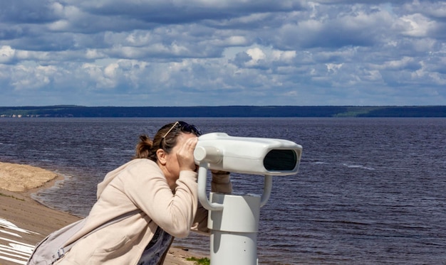
{"label": "beige hooded jacket worn by the woman leaning forward", "polygon": [[[110,171],[98,184],[98,201],[93,205],[85,227],[70,241],[115,217],[140,211],[78,240],[56,264],[137,264],[157,226],[173,237],[186,237],[192,226],[207,232],[207,210],[199,207],[196,180],[197,173],[181,171],[177,187],[170,190],[161,169],[145,158]],[[229,175],[213,176],[212,190],[230,193]]]}

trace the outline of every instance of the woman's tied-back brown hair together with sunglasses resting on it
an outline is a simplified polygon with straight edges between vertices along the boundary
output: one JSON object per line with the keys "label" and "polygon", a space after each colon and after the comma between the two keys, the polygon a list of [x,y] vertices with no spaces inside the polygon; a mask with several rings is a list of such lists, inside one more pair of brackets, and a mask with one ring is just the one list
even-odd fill
{"label": "woman's tied-back brown hair together with sunglasses resting on it", "polygon": [[147,158],[157,162],[157,150],[162,149],[170,153],[172,148],[177,145],[177,139],[180,134],[195,134],[200,136],[202,132],[197,126],[187,124],[185,121],[175,121],[165,124],[157,131],[153,141],[147,135],[141,135],[140,141],[136,146],[136,153],[133,158]]}

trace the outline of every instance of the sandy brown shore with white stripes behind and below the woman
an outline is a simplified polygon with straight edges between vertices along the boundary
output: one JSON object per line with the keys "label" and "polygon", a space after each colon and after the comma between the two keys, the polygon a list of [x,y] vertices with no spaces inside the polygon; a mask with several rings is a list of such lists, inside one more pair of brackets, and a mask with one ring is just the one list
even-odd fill
{"label": "sandy brown shore with white stripes behind and below the woman", "polygon": [[[33,247],[51,232],[79,217],[53,210],[31,199],[38,189],[51,187],[61,176],[42,168],[0,162],[0,265],[26,264]],[[171,247],[166,265],[192,265],[199,256]]]}

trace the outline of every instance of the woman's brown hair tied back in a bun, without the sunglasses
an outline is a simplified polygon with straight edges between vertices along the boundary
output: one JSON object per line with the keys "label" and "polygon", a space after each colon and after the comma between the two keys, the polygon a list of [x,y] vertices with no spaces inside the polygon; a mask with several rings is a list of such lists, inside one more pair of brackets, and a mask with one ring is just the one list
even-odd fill
{"label": "woman's brown hair tied back in a bun, without the sunglasses", "polygon": [[140,135],[140,141],[136,145],[136,153],[133,159],[147,158],[151,161],[157,162],[157,150],[162,149],[166,153],[170,153],[172,148],[177,144],[177,138],[180,134],[184,133],[180,129],[172,128],[175,123],[166,124],[157,131],[153,141],[150,137],[142,134]]}

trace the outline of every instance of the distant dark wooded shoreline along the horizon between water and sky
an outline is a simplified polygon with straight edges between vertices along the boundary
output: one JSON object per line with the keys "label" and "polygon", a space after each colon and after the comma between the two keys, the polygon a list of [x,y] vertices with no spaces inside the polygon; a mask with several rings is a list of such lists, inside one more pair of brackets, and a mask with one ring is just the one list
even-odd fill
{"label": "distant dark wooded shoreline along the horizon between water and sky", "polygon": [[446,117],[446,106],[0,107],[0,117]]}

